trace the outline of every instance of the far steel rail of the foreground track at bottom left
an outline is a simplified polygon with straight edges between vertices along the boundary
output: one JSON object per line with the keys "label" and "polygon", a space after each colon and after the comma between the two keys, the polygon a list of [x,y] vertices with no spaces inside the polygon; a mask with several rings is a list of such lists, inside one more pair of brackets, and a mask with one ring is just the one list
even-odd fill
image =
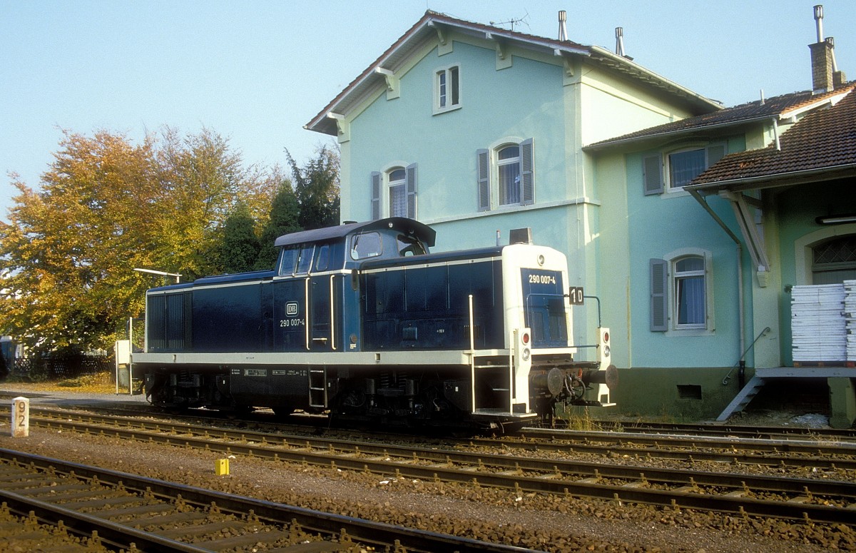
{"label": "far steel rail of the foreground track at bottom left", "polygon": [[[181,501],[198,507],[207,507],[214,503],[220,511],[227,511],[235,514],[247,514],[252,511],[260,520],[267,520],[274,524],[288,525],[293,520],[296,520],[300,526],[308,529],[310,532],[320,532],[325,535],[341,535],[343,532],[346,532],[348,537],[364,544],[381,546],[400,544],[410,551],[437,551],[448,553],[453,553],[454,551],[458,551],[460,553],[465,551],[495,551],[498,553],[520,553],[531,551],[525,548],[515,547],[513,545],[491,544],[472,538],[461,538],[438,532],[428,532],[425,530],[393,526],[382,522],[357,519],[341,514],[324,513],[323,511],[294,507],[283,503],[255,499],[253,497],[241,497],[220,491],[205,490],[196,486],[167,482],[165,480],[147,478],[131,473],[122,473],[106,468],[82,465],[71,461],[51,459],[42,455],[22,453],[11,449],[0,449],[0,458],[15,460],[18,462],[23,461],[28,464],[32,464],[34,467],[45,469],[52,467],[53,470],[57,472],[74,473],[75,476],[85,479],[97,478],[101,483],[122,485],[126,490],[148,492],[154,494],[155,497],[162,497],[170,500],[175,500],[178,497],[181,497]],[[15,496],[15,494],[4,492],[3,497],[6,496],[9,496],[13,501],[21,501],[19,498],[12,497]],[[23,499],[30,502],[32,498]],[[47,513],[48,510],[51,509],[46,509],[45,513]],[[60,514],[63,514],[63,517],[65,515],[64,513]],[[63,517],[61,517],[62,520],[65,520]],[[95,523],[98,522],[98,520],[90,520],[90,522]],[[104,521],[102,520],[100,523],[104,524]],[[124,531],[125,527],[122,526],[122,532]],[[138,544],[138,547],[139,545],[140,544]],[[155,548],[153,550],[158,549]],[[196,548],[192,551],[208,550]]]}

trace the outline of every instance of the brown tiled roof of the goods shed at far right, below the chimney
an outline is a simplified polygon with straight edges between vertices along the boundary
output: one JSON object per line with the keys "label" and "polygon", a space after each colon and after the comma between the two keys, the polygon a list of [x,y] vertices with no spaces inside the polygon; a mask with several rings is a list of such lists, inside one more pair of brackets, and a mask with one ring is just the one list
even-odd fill
{"label": "brown tiled roof of the goods shed at far right, below the chimney", "polygon": [[[693,180],[693,185],[793,174],[799,171],[856,168],[856,86],[837,104],[806,115],[763,149],[729,154]],[[841,92],[839,90],[838,92]]]}

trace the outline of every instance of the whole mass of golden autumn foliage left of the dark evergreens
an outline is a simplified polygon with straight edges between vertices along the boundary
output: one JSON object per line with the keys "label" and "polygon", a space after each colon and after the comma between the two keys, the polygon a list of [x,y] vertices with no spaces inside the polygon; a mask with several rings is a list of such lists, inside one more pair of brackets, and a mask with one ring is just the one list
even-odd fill
{"label": "whole mass of golden autumn foliage left of the dark evergreens", "polygon": [[110,348],[145,289],[163,283],[134,268],[186,280],[221,272],[229,213],[265,195],[264,179],[208,129],[166,129],[139,146],[66,132],[59,146],[39,190],[13,182],[0,224],[0,331],[31,348]]}

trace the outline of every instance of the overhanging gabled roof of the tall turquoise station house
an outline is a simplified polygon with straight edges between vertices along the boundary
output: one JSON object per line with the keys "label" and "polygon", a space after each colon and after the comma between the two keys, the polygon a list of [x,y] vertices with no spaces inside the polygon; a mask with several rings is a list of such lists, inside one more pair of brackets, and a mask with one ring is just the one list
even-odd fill
{"label": "overhanging gabled roof of the tall turquoise station house", "polygon": [[650,70],[642,67],[630,59],[613,54],[599,46],[586,46],[571,40],[547,39],[533,34],[509,31],[502,27],[493,27],[473,21],[457,19],[450,15],[427,10],[413,27],[407,29],[395,43],[372,62],[356,79],[352,80],[336,98],[324,106],[312,121],[306,123],[305,128],[325,134],[336,134],[336,122],[330,120],[330,113],[347,115],[349,110],[354,109],[360,102],[364,101],[366,95],[383,82],[383,75],[377,72],[378,68],[388,69],[395,72],[404,64],[407,56],[428,40],[437,40],[437,29],[449,28],[458,33],[465,33],[486,39],[495,39],[498,42],[507,42],[536,51],[546,51],[556,55],[585,56],[603,68],[608,68],[619,74],[623,74],[638,82],[645,82],[648,86],[657,88],[660,92],[669,94],[675,98],[681,98],[687,103],[687,109],[694,113],[701,111],[717,110],[720,105],[709,98],[704,98],[697,92],[693,92],[675,82],[668,80]]}

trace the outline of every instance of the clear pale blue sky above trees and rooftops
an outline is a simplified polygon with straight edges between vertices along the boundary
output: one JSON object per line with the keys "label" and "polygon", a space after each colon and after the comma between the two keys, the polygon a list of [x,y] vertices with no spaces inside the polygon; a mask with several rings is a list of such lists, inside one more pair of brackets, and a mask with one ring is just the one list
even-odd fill
{"label": "clear pale blue sky above trees and rooftops", "polygon": [[[0,0],[0,218],[9,172],[31,187],[62,128],[140,140],[164,125],[229,138],[247,164],[302,164],[331,140],[303,129],[425,13],[625,49],[726,105],[811,88],[807,0]],[[823,30],[856,79],[856,2],[826,0]],[[508,27],[508,26],[506,26]]]}

